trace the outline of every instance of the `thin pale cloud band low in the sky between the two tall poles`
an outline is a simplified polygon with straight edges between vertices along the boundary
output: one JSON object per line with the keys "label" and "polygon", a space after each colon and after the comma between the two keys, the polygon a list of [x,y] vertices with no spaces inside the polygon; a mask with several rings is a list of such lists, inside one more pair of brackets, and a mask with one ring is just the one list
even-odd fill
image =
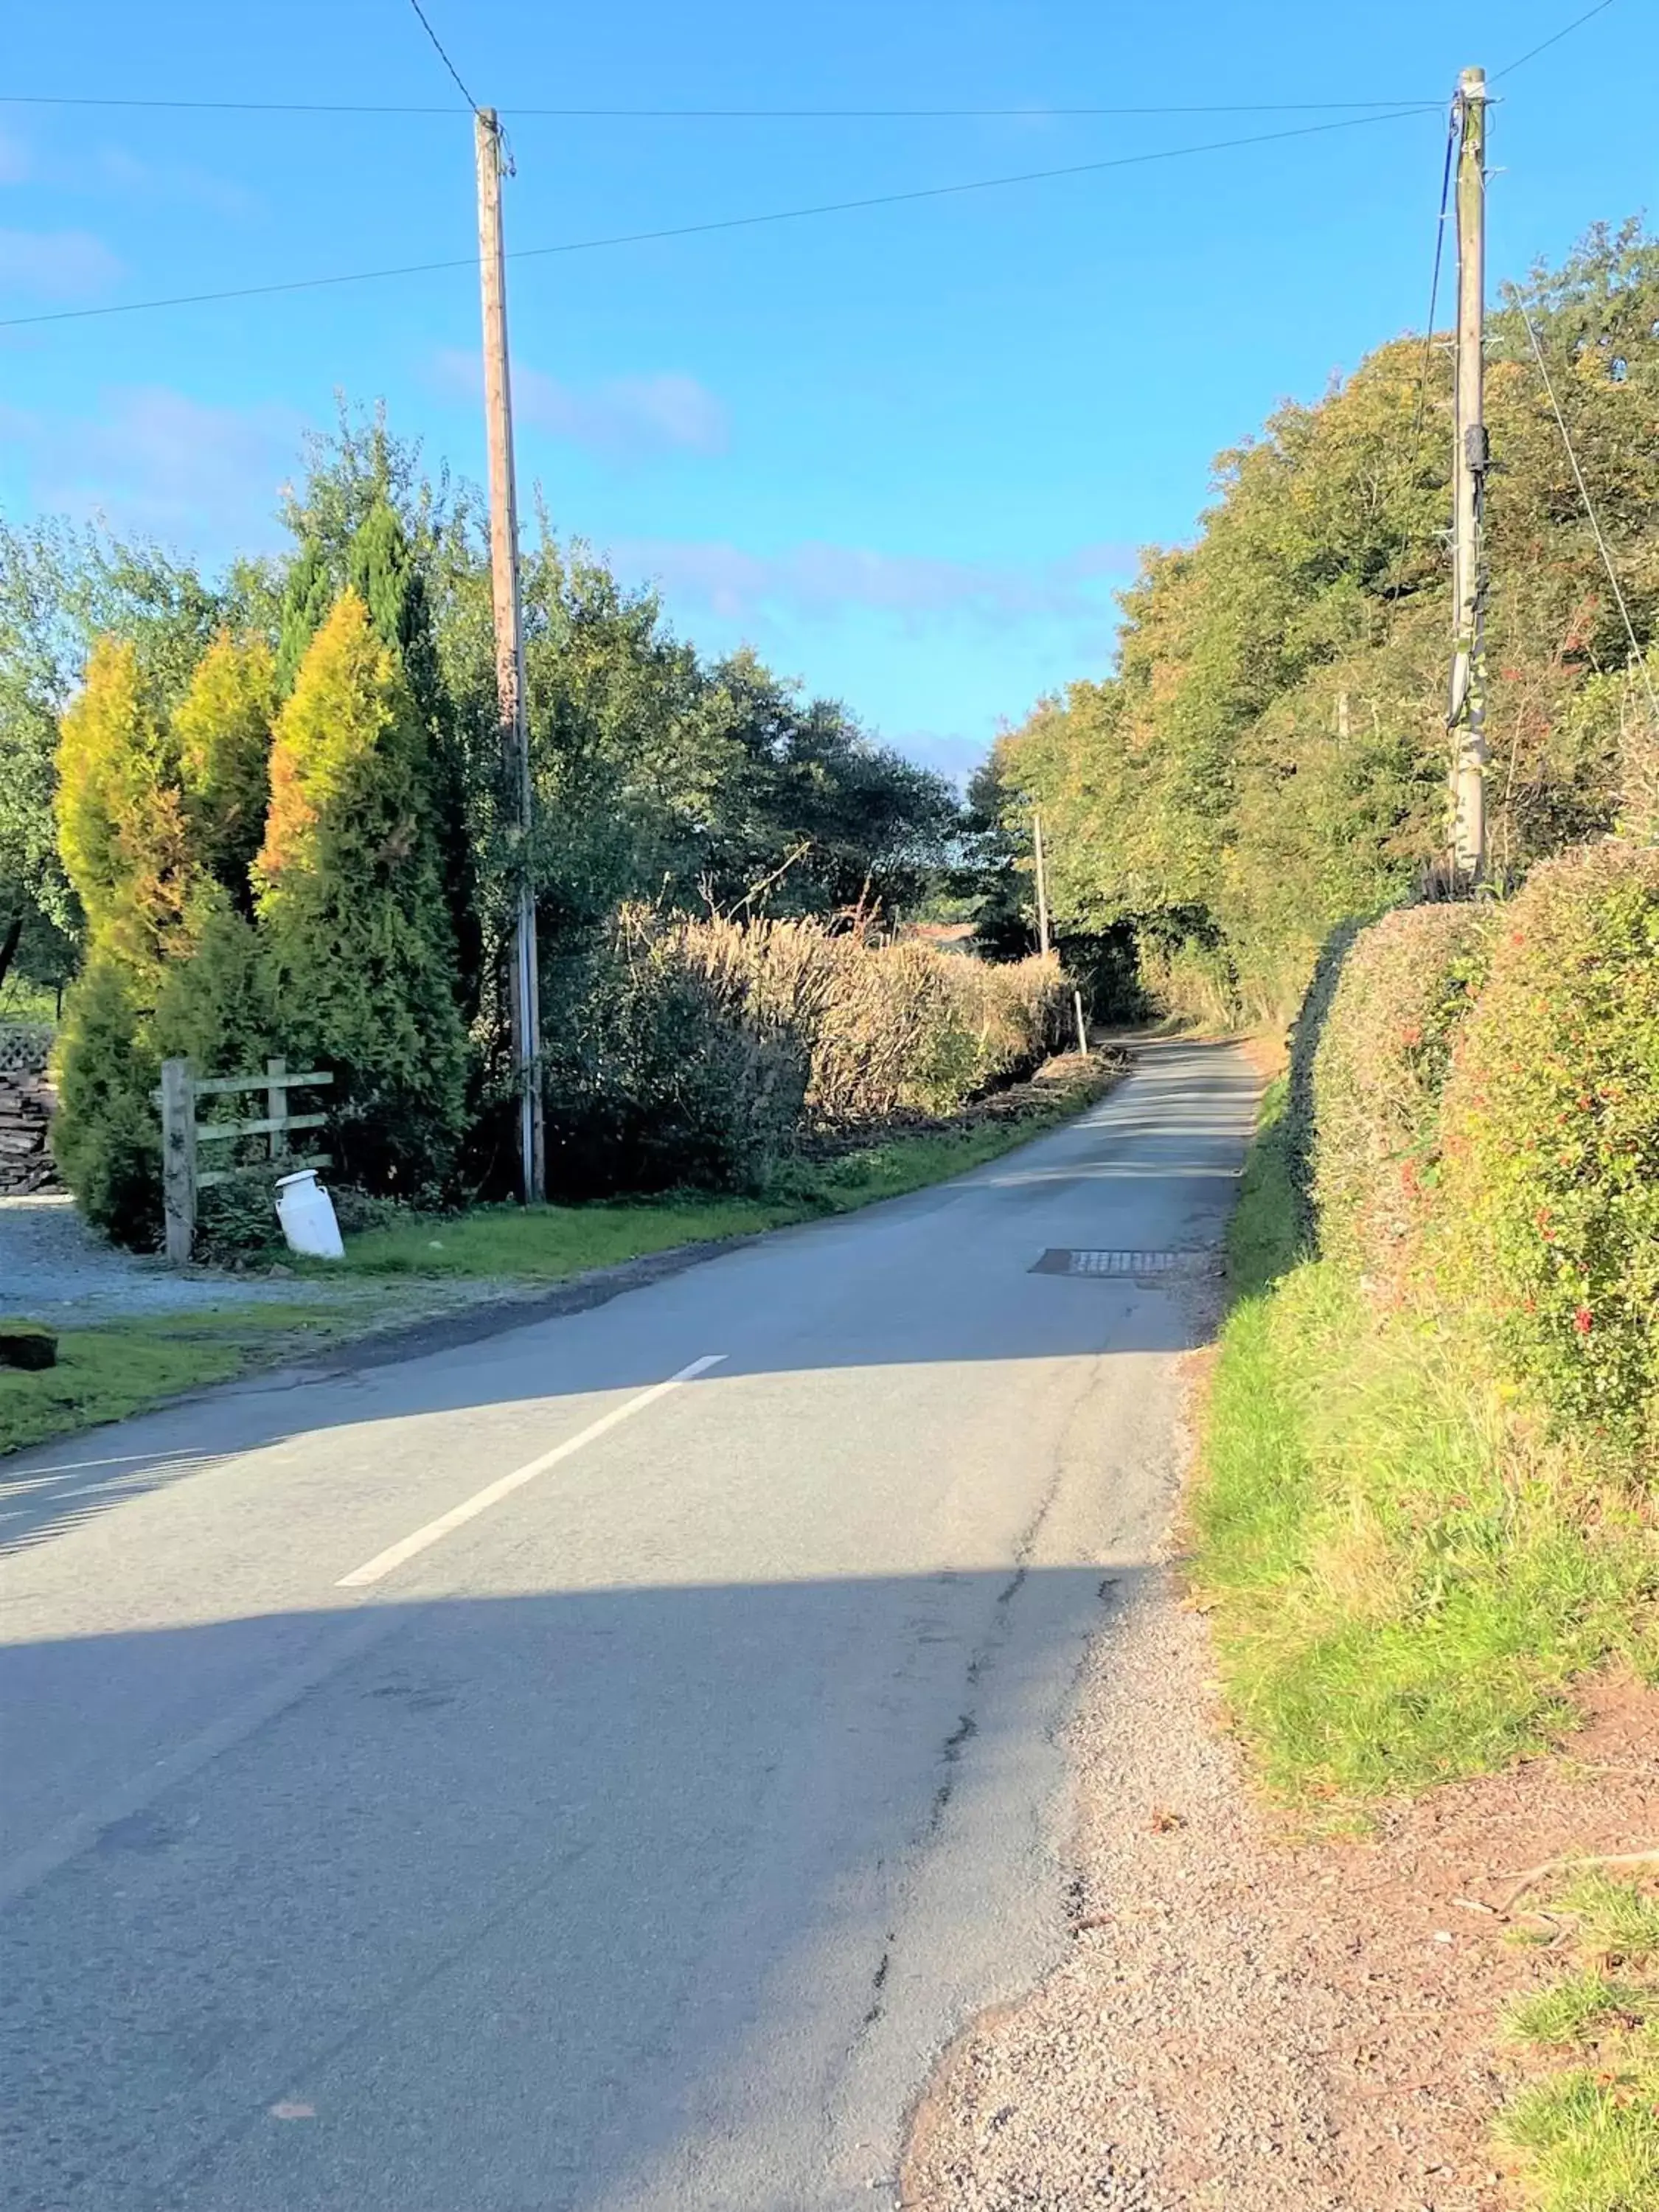
{"label": "thin pale cloud band low in the sky between the two tall poles", "polygon": [[723,622],[779,613],[823,619],[860,608],[894,615],[907,628],[951,617],[978,626],[1093,622],[1108,611],[1102,582],[1135,568],[1135,549],[1126,544],[1082,546],[1033,564],[821,542],[745,553],[734,544],[672,538],[624,540],[611,555],[626,573],[655,577],[670,599],[706,606]]}

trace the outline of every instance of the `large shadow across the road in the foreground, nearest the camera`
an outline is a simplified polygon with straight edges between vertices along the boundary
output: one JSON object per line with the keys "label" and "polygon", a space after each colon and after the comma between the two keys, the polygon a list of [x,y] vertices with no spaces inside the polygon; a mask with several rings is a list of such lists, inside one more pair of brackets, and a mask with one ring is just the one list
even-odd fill
{"label": "large shadow across the road in the foreground, nearest the camera", "polygon": [[292,1690],[11,1905],[11,2201],[830,2203],[790,2163],[825,2099],[902,2104],[984,1978],[1064,1942],[1020,1924],[1057,1893],[1035,1832],[962,1801],[1042,1798],[1033,1686],[1108,1595],[947,1571],[7,1650],[13,1730],[157,1672]]}

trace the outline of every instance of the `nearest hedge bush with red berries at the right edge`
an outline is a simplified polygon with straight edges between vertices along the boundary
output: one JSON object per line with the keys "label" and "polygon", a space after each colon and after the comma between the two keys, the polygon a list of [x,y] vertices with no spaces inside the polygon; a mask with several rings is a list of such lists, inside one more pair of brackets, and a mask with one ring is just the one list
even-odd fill
{"label": "nearest hedge bush with red berries at the right edge", "polygon": [[1444,1265],[1564,1416],[1659,1391],[1659,849],[1548,860],[1502,911],[1442,1108]]}

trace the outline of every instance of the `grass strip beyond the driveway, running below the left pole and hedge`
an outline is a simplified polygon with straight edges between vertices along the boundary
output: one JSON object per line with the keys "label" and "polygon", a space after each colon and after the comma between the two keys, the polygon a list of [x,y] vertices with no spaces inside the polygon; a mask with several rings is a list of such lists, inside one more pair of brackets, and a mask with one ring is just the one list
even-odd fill
{"label": "grass strip beyond the driveway, running below the left pole and hedge", "polygon": [[[763,1197],[670,1192],[595,1206],[480,1206],[469,1214],[411,1217],[347,1237],[345,1272],[560,1283],[675,1245],[752,1237],[962,1175],[1079,1113],[1102,1088],[1102,1077],[1084,1077],[1006,1121],[887,1137],[836,1159],[792,1161]],[[338,1274],[338,1267],[307,1272]]]}

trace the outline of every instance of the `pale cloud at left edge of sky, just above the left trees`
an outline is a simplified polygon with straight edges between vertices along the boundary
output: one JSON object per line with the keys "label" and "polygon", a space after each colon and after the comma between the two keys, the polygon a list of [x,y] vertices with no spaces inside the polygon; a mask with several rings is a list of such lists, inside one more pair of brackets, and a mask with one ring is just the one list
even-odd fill
{"label": "pale cloud at left edge of sky, just above the left trees", "polygon": [[0,409],[35,507],[215,553],[274,542],[303,427],[290,407],[212,407],[164,385],[111,389],[95,416]]}

